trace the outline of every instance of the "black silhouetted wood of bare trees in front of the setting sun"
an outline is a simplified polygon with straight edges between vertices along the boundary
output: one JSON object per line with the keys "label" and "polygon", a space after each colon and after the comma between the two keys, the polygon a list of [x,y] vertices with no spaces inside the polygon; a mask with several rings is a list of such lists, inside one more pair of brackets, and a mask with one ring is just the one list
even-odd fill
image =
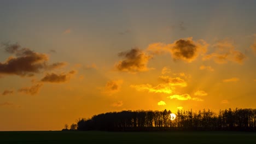
{"label": "black silhouetted wood of bare trees in front of the setting sun", "polygon": [[108,112],[78,119],[78,130],[159,131],[159,130],[234,130],[256,131],[256,109],[178,110],[171,121],[170,110]]}

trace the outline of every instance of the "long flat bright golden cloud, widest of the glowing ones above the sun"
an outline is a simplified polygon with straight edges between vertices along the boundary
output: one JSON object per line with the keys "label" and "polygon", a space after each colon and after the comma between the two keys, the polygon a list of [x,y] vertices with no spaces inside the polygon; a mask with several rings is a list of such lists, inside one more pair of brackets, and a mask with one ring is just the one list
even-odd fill
{"label": "long flat bright golden cloud, widest of the glowing ones above the sun", "polygon": [[140,92],[148,91],[149,93],[166,93],[166,94],[171,94],[174,89],[174,87],[166,83],[160,83],[157,86],[152,86],[147,83],[146,85],[144,84],[131,85],[130,87],[135,88],[137,91],[140,91]]}

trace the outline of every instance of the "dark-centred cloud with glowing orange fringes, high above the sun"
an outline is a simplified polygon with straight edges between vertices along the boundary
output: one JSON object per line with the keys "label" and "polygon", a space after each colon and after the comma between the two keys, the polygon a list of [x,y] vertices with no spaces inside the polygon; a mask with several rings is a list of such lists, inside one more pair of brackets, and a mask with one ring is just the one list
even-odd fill
{"label": "dark-centred cloud with glowing orange fringes, high above the sun", "polygon": [[147,51],[153,55],[161,55],[169,52],[174,61],[182,60],[192,62],[199,54],[207,51],[208,44],[204,40],[193,41],[193,38],[179,39],[172,44],[154,43],[150,44]]}

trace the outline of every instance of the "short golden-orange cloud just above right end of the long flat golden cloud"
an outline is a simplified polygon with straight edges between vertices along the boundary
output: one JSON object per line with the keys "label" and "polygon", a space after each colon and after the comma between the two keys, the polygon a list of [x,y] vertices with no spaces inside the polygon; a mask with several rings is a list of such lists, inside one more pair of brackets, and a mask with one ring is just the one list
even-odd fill
{"label": "short golden-orange cloud just above right end of the long flat golden cloud", "polygon": [[159,76],[160,81],[168,83],[170,86],[187,87],[187,82],[179,77]]}

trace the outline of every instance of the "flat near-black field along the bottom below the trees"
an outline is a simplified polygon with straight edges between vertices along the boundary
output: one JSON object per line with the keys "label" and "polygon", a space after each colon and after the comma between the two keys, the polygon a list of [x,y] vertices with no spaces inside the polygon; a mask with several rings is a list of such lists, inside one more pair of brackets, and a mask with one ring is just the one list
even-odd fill
{"label": "flat near-black field along the bottom below the trees", "polygon": [[236,131],[0,131],[0,143],[256,143],[256,133]]}

